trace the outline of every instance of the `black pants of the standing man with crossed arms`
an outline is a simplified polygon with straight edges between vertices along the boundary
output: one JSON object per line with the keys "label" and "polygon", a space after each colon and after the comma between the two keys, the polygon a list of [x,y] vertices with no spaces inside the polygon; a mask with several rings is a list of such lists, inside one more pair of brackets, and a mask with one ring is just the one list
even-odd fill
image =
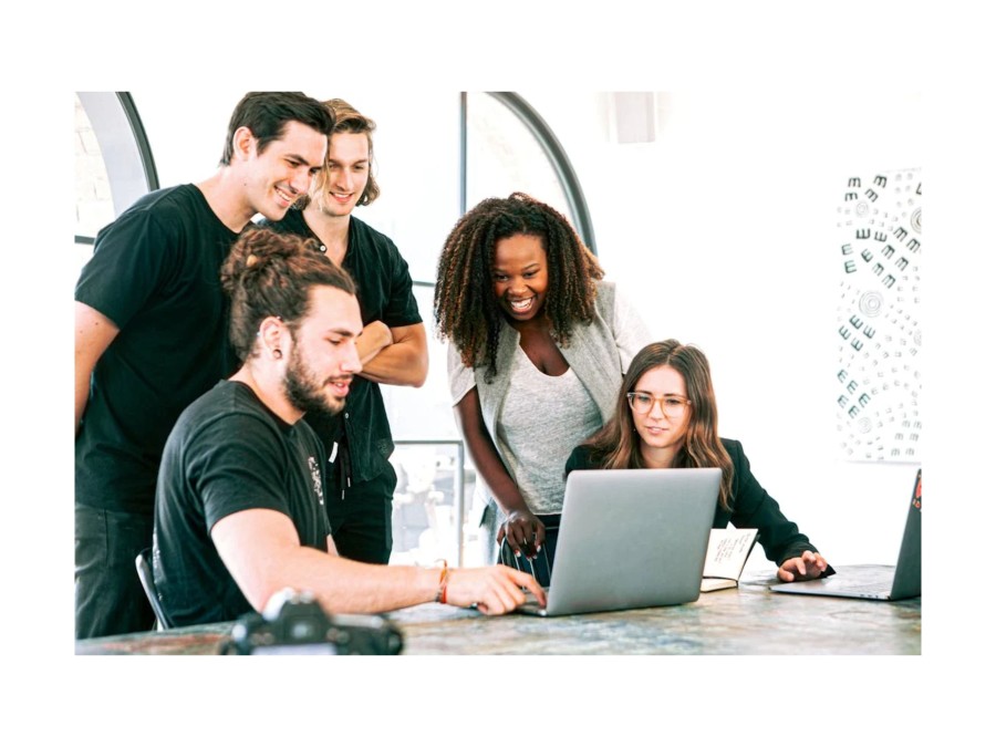
{"label": "black pants of the standing man with crossed arms", "polygon": [[[329,485],[339,485],[334,469]],[[325,510],[340,556],[364,563],[387,564],[394,544],[391,510],[395,487],[397,475],[388,464],[372,480],[353,483],[344,491],[340,488],[326,491]]]}

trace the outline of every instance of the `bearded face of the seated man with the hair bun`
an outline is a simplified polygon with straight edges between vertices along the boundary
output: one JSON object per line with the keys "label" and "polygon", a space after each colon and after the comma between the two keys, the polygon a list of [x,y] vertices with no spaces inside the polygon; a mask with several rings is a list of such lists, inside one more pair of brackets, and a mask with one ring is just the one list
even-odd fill
{"label": "bearded face of the seated man with the hair bun", "polygon": [[356,336],[363,330],[356,297],[315,286],[310,311],[291,338],[284,377],[288,401],[302,413],[335,415],[345,406],[353,374],[362,370]]}

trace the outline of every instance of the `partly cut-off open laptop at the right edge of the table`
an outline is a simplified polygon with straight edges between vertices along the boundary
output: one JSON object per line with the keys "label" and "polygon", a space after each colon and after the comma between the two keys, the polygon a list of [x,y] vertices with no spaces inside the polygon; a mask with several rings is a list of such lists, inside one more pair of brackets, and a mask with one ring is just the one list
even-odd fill
{"label": "partly cut-off open laptop at the right edge of the table", "polygon": [[895,601],[920,596],[921,469],[916,470],[913,498],[906,511],[906,528],[899,559],[892,566],[843,566],[834,575],[813,581],[779,583],[771,591]]}

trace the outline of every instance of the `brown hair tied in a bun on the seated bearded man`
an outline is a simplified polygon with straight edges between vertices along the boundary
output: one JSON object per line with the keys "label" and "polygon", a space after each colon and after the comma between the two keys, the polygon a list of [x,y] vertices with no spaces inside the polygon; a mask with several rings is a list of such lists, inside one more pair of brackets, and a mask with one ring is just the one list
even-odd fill
{"label": "brown hair tied in a bun on the seated bearded man", "polygon": [[256,333],[267,317],[279,317],[293,331],[309,312],[313,286],[356,294],[345,270],[318,250],[314,239],[247,228],[221,266],[221,287],[231,299],[231,344],[240,361],[252,355]]}

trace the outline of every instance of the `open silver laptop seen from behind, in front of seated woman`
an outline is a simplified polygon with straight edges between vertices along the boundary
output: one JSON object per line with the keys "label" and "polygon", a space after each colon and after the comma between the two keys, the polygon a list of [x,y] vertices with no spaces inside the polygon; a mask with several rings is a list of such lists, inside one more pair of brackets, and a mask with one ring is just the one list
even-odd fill
{"label": "open silver laptop seen from behind, in front of seated woman", "polygon": [[712,468],[568,475],[547,606],[531,599],[519,611],[552,616],[694,602],[719,476]]}

